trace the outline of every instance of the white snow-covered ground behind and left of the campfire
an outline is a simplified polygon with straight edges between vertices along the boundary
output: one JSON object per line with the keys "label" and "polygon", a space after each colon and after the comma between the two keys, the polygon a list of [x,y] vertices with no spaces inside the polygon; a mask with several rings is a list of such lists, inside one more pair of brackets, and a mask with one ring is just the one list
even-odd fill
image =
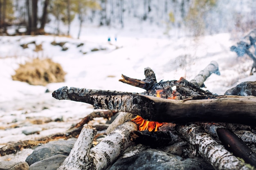
{"label": "white snow-covered ground behind and left of the campfire", "polygon": [[[76,37],[76,30],[72,37]],[[179,32],[175,32],[178,33]],[[175,34],[173,33],[173,34]],[[114,40],[115,36],[117,41]],[[108,43],[111,38],[111,44]],[[67,42],[69,49],[50,43]],[[34,52],[35,45],[22,49],[20,44],[36,41],[43,51]],[[77,47],[78,44],[83,46]],[[0,37],[0,147],[10,141],[35,139],[36,137],[65,132],[72,124],[93,111],[92,106],[73,101],[59,101],[52,91],[62,87],[79,87],[126,92],[144,92],[143,89],[123,84],[121,74],[144,79],[144,68],[155,72],[157,81],[184,77],[193,79],[211,61],[219,64],[220,75],[211,75],[204,83],[212,93],[223,95],[232,86],[244,81],[255,81],[249,76],[252,60],[237,57],[230,46],[229,33],[208,35],[198,38],[163,35],[157,27],[147,29],[110,29],[107,27],[85,27],[81,38],[55,37],[52,35]],[[106,49],[91,52],[93,48]],[[83,54],[87,52],[86,54]],[[47,86],[33,86],[13,81],[11,75],[19,64],[34,57],[49,57],[58,62],[67,73],[65,82]],[[45,93],[46,90],[50,93]],[[63,119],[45,124],[33,124],[32,120]],[[25,135],[22,130],[42,128],[40,134]],[[29,151],[30,152],[30,151]],[[27,153],[26,153],[27,154]],[[6,157],[0,157],[5,160]],[[12,158],[13,160],[17,160]],[[18,158],[19,161],[24,157]]]}

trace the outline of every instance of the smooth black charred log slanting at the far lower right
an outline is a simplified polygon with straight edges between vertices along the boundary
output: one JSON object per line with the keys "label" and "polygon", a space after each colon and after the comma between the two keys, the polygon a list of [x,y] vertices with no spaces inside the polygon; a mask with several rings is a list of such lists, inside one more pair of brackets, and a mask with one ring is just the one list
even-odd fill
{"label": "smooth black charred log slanting at the far lower right", "polygon": [[227,128],[218,128],[218,137],[227,150],[236,157],[242,158],[246,163],[256,167],[256,153],[245,142]]}

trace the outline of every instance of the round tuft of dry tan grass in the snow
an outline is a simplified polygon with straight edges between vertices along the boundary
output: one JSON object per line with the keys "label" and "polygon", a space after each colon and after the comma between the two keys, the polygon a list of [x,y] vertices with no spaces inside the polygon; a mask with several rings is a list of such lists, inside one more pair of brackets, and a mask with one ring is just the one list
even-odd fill
{"label": "round tuft of dry tan grass in the snow", "polygon": [[13,80],[27,82],[31,85],[46,86],[48,83],[64,82],[65,74],[61,65],[51,59],[36,58],[32,62],[20,64],[16,74],[11,77]]}

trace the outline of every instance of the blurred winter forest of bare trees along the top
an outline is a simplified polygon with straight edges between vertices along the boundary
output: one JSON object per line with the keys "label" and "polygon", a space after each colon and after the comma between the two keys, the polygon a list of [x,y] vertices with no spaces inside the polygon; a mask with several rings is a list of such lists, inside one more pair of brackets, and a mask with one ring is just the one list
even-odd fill
{"label": "blurred winter forest of bare trees along the top", "polygon": [[166,34],[246,32],[256,26],[255,8],[255,0],[0,0],[0,33],[69,35],[74,18],[78,38],[83,24],[123,28],[131,20],[164,27]]}

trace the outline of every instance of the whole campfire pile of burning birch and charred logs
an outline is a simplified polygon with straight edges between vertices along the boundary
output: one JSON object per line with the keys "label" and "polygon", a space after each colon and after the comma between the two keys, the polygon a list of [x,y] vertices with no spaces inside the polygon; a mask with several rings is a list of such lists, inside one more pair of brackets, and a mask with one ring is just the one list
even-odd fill
{"label": "whole campfire pile of burning birch and charred logs", "polygon": [[[163,157],[168,158],[168,169],[175,163],[183,169],[255,169],[256,97],[251,96],[255,83],[244,82],[242,88],[248,96],[236,94],[241,85],[219,96],[201,88],[212,73],[220,75],[215,61],[191,81],[182,77],[157,82],[147,67],[144,80],[125,75],[119,80],[143,88],[145,93],[75,87],[54,91],[56,99],[85,102],[111,114],[121,112],[118,117],[131,115],[122,121],[117,117],[114,130],[94,147],[97,130],[84,120],[77,124],[81,132],[59,170],[136,169],[137,161],[145,168],[155,167]],[[145,154],[152,153],[162,158],[146,156],[144,163]]]}

